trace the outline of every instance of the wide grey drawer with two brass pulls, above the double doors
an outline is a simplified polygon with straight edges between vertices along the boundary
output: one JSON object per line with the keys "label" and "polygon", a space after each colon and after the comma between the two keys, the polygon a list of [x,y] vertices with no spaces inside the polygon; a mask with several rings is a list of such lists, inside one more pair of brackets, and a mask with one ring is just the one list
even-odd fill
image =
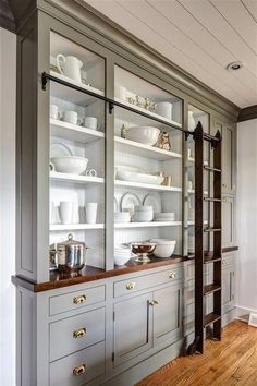
{"label": "wide grey drawer with two brass pulls, above the double doors", "polygon": [[175,282],[183,278],[182,267],[171,267],[156,274],[132,277],[126,280],[114,282],[114,297],[122,297],[136,291],[140,291],[150,287],[159,286],[167,282]]}

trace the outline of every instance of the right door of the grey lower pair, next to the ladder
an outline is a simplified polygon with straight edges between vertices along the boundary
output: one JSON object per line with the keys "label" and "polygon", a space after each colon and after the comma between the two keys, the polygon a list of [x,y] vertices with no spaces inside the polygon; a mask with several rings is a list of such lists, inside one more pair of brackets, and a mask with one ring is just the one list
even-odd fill
{"label": "right door of the grey lower pair, next to the ladder", "polygon": [[154,345],[169,345],[182,335],[182,285],[154,292]]}

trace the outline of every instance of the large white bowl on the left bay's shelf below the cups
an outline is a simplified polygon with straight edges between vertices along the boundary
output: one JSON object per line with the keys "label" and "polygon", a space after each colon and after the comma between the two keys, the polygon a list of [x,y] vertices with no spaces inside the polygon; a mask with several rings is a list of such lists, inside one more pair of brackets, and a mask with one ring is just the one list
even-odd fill
{"label": "large white bowl on the left bay's shelf below the cups", "polygon": [[88,159],[83,157],[53,157],[54,170],[61,173],[82,174],[86,171]]}

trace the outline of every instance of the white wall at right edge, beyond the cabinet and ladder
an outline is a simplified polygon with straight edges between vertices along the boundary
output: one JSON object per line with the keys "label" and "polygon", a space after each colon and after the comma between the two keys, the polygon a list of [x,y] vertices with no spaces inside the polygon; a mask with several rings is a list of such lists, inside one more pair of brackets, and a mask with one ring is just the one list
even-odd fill
{"label": "white wall at right edge, beyond the cabinet and ladder", "polygon": [[237,304],[257,312],[257,119],[237,129]]}

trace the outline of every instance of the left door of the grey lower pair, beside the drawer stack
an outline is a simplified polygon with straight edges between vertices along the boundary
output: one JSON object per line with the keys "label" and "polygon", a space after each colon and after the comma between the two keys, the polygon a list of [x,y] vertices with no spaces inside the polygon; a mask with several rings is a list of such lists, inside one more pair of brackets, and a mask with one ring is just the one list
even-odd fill
{"label": "left door of the grey lower pair, beside the drawer stack", "polygon": [[114,366],[152,347],[151,293],[114,304]]}

